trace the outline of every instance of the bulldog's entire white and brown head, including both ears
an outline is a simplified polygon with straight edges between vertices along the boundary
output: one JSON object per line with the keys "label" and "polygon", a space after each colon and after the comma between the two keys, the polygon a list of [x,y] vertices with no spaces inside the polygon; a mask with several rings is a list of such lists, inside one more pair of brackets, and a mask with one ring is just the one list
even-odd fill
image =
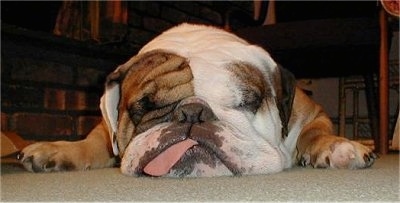
{"label": "bulldog's entire white and brown head, including both ears", "polygon": [[281,171],[294,78],[263,49],[184,24],[108,76],[101,110],[127,175]]}

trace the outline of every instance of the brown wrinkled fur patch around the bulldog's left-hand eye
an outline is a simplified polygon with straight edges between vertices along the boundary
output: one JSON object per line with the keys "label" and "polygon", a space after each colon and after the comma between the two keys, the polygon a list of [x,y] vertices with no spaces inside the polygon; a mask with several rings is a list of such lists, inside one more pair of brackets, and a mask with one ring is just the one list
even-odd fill
{"label": "brown wrinkled fur patch around the bulldog's left-hand eye", "polygon": [[177,101],[194,95],[193,75],[183,57],[156,50],[136,56],[128,65],[119,104],[120,152],[136,134],[170,119]]}

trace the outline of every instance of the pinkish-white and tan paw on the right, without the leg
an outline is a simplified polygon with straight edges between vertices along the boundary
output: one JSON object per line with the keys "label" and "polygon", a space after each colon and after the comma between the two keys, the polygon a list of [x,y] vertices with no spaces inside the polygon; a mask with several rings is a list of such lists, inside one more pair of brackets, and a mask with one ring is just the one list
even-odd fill
{"label": "pinkish-white and tan paw on the right, without the leg", "polygon": [[[324,142],[324,143],[321,143]],[[340,137],[322,139],[302,155],[300,165],[314,168],[361,169],[372,166],[378,156],[367,146]]]}

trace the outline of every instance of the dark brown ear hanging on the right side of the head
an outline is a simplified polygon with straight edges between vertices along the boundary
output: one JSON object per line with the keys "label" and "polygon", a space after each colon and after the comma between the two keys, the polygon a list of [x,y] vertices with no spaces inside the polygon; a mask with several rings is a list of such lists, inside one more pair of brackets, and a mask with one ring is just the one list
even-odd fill
{"label": "dark brown ear hanging on the right side of the head", "polygon": [[277,81],[277,104],[282,121],[282,139],[284,139],[288,135],[288,124],[296,91],[296,79],[291,72],[280,65],[278,67],[280,72],[278,78],[280,79]]}

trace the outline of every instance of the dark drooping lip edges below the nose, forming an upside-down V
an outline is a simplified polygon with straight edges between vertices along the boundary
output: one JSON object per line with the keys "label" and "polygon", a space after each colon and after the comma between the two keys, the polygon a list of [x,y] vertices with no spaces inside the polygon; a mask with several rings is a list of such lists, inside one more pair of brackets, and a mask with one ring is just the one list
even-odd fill
{"label": "dark drooping lip edges below the nose, forming an upside-down V", "polygon": [[[183,124],[183,125],[185,125],[185,124]],[[153,159],[155,159],[158,155],[160,155],[162,152],[164,152],[165,150],[167,150],[171,146],[173,146],[173,145],[175,145],[175,144],[177,144],[179,142],[182,142],[182,141],[184,141],[186,139],[192,139],[195,142],[197,142],[197,144],[192,146],[192,147],[190,147],[189,149],[187,149],[187,151],[191,150],[193,147],[202,148],[207,153],[215,155],[216,158],[219,159],[221,161],[221,163],[224,164],[228,168],[228,170],[231,171],[231,173],[233,175],[235,175],[235,176],[241,175],[241,173],[242,173],[241,170],[236,166],[236,164],[234,164],[234,163],[232,163],[232,162],[230,162],[228,160],[227,155],[220,148],[218,148],[218,146],[215,143],[213,143],[211,141],[208,141],[207,139],[202,139],[202,137],[192,136],[191,135],[191,133],[193,131],[192,129],[195,128],[196,125],[198,125],[198,124],[190,125],[190,130],[188,131],[189,134],[184,135],[184,136],[182,136],[182,135],[177,136],[177,137],[175,137],[175,139],[171,139],[167,143],[161,143],[157,147],[157,149],[155,150],[156,152],[153,152],[153,151],[146,152],[142,157],[144,159],[140,160],[140,163],[139,163],[139,165],[138,165],[138,167],[136,169],[136,174],[145,175],[145,176],[152,176],[152,175],[149,175],[149,174],[145,173],[144,172],[144,168]],[[183,127],[185,127],[185,126],[183,126]],[[186,154],[183,155],[183,156],[186,156]],[[181,159],[183,158],[183,156],[181,157]]]}

